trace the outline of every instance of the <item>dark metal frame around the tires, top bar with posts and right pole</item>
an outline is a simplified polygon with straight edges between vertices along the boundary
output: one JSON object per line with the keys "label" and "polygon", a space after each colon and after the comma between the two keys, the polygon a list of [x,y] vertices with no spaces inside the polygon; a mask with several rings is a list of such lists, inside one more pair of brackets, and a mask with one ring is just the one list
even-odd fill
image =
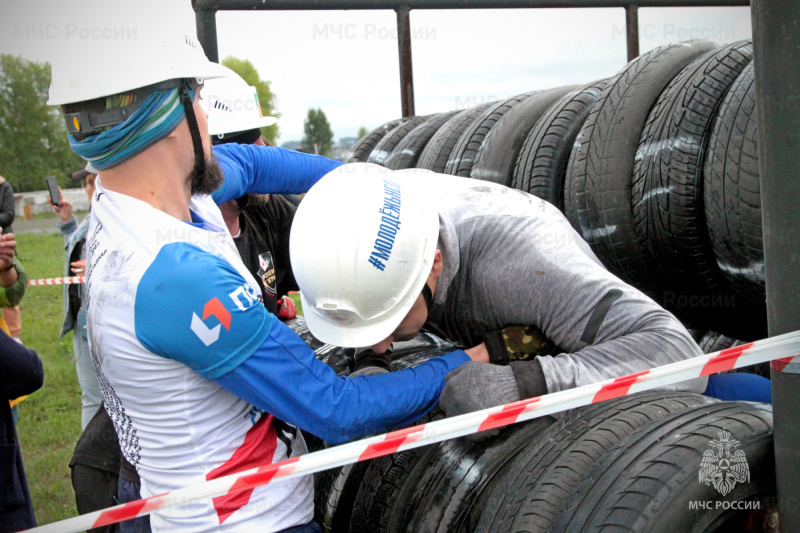
{"label": "dark metal frame around the tires, top bar with posts and right pole", "polygon": [[[403,116],[414,115],[412,9],[621,7],[630,61],[639,55],[639,7],[747,5],[749,0],[192,0],[197,36],[215,62],[218,10],[393,9]],[[751,13],[768,321],[770,335],[777,335],[800,329],[800,2],[753,0]],[[773,368],[772,390],[781,530],[800,533],[800,365]]]}

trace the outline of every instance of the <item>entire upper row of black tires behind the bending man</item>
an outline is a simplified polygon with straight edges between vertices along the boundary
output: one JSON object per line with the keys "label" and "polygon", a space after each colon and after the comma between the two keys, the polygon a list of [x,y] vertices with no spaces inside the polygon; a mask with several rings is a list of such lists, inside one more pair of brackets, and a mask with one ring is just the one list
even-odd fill
{"label": "entire upper row of black tires behind the bending man", "polygon": [[687,327],[766,336],[749,40],[664,45],[614,77],[370,132],[350,162],[508,185]]}

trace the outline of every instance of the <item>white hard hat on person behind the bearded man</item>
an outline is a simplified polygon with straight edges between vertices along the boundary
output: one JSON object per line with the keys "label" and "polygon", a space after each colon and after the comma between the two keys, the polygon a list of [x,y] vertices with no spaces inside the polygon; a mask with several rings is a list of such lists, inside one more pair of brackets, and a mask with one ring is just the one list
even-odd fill
{"label": "white hard hat on person behind the bearded man", "polygon": [[228,67],[224,78],[209,80],[203,88],[203,107],[208,113],[209,135],[272,126],[278,119],[261,114],[256,88]]}

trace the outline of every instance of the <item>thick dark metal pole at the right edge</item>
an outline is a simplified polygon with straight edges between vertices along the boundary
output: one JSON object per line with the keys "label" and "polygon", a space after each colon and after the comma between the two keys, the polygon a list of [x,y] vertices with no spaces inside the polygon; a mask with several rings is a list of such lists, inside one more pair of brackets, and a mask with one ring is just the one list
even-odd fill
{"label": "thick dark metal pole at the right edge", "polygon": [[[751,15],[772,336],[800,329],[800,2],[753,0]],[[781,531],[800,532],[800,365],[771,377]]]}

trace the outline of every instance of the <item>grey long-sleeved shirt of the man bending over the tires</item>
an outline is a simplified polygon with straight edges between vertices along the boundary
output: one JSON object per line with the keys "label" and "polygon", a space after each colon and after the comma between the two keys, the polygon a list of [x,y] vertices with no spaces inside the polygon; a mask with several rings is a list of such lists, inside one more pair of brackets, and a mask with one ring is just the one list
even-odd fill
{"label": "grey long-sleeved shirt of the man bending over the tires", "polygon": [[[474,346],[508,326],[536,326],[564,351],[536,358],[541,393],[701,355],[686,328],[608,272],[553,205],[494,183],[415,172],[438,202],[443,258],[426,328]],[[702,393],[706,381],[668,388]]]}

